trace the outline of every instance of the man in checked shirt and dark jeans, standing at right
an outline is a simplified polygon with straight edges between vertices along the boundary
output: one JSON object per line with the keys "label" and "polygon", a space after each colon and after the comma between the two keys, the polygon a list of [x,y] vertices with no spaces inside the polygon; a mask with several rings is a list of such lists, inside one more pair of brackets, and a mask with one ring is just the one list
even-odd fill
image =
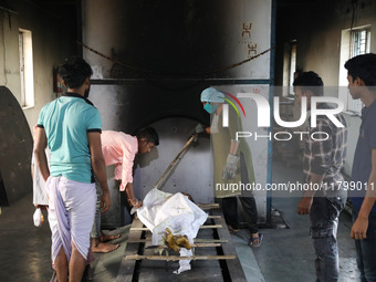
{"label": "man in checked shirt and dark jeans, standing at right", "polygon": [[[293,85],[297,103],[304,105],[302,101],[306,98],[307,109],[311,109],[312,96],[323,95],[323,81],[314,72],[300,74]],[[332,109],[325,103],[318,103],[316,108]],[[325,282],[338,280],[336,234],[338,216],[346,201],[345,191],[338,184],[344,181],[341,169],[346,155],[347,129],[344,117],[335,117],[343,127],[335,125],[326,115],[318,115],[316,126],[310,126],[309,134],[304,135],[303,174],[310,189],[304,191],[297,206],[299,215],[310,215],[316,281]]]}

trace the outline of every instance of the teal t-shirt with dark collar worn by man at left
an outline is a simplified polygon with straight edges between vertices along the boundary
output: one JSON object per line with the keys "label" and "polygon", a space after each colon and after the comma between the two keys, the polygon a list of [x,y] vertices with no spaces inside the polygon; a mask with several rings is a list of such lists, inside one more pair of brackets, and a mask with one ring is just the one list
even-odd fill
{"label": "teal t-shirt with dark collar worn by man at left", "polygon": [[38,127],[50,137],[51,176],[92,182],[87,133],[101,133],[100,112],[80,94],[65,93],[42,108]]}

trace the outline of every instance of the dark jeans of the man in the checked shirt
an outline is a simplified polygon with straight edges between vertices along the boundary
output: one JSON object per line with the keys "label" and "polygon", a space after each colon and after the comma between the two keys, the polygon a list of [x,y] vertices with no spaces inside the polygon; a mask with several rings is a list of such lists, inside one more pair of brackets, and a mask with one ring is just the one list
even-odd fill
{"label": "dark jeans of the man in the checked shirt", "polygon": [[316,281],[338,280],[338,216],[346,197],[314,197],[310,212],[311,238],[315,250]]}

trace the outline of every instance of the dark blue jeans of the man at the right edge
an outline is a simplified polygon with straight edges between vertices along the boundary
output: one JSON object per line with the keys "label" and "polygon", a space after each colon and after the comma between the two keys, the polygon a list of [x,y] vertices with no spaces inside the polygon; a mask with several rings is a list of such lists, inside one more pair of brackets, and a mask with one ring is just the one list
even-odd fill
{"label": "dark blue jeans of the man at the right edge", "polygon": [[[359,210],[353,207],[353,222]],[[356,263],[361,272],[362,282],[376,282],[376,212],[368,217],[367,238],[355,240]]]}

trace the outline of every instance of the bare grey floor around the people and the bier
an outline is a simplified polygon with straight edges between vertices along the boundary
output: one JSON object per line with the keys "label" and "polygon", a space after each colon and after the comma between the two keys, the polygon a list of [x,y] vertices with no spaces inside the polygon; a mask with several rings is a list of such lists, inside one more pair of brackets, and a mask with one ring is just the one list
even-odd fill
{"label": "bare grey floor around the people and the bier", "polygon": [[[273,181],[285,182],[299,179],[300,168],[288,168],[275,163]],[[52,274],[50,261],[50,229],[45,222],[35,228],[32,222],[34,211],[32,196],[8,208],[0,216],[0,281],[49,281]],[[274,195],[272,207],[281,216],[289,229],[261,229],[263,243],[258,249],[248,247],[249,233],[241,230],[232,236],[247,281],[315,281],[313,248],[309,237],[307,216],[297,216],[297,197]],[[338,227],[341,257],[340,281],[358,281],[355,263],[354,241],[349,238],[351,218],[342,212]],[[107,254],[95,254],[92,263],[95,282],[115,281],[126,246],[129,227],[111,231],[122,237],[114,242],[121,248]],[[205,279],[208,281],[208,279]]]}

